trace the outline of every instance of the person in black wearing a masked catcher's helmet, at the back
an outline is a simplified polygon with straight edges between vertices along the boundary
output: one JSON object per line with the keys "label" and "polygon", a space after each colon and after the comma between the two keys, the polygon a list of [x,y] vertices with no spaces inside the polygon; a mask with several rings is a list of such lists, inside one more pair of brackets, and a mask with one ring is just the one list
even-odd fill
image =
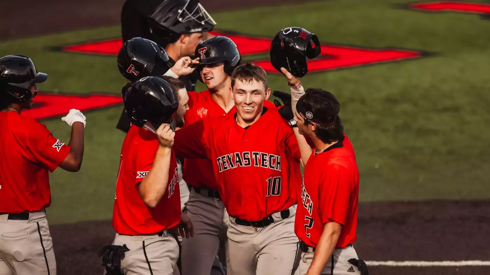
{"label": "person in black wearing a masked catcher's helmet, at the back", "polygon": [[[169,55],[167,69],[180,58],[192,56],[197,44],[209,36],[207,32],[215,25],[198,0],[126,0],[121,11],[123,41],[141,37],[156,42]],[[196,91],[198,77],[192,73],[179,79],[187,91]],[[129,125],[123,112],[116,128],[127,133]]]}

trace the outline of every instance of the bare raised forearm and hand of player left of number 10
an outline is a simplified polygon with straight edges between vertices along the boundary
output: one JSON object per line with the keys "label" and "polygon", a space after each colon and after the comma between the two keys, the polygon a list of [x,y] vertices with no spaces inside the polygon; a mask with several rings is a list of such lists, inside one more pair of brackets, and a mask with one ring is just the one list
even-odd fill
{"label": "bare raised forearm and hand of player left of number 10", "polygon": [[172,146],[175,133],[169,124],[162,124],[156,131],[158,149],[153,165],[138,186],[143,202],[148,207],[155,207],[162,199],[169,183]]}

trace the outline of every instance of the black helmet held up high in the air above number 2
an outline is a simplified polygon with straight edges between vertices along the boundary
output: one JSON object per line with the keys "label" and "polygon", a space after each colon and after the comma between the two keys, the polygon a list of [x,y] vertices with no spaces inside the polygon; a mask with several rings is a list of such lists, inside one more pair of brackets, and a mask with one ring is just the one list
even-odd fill
{"label": "black helmet held up high in the air above number 2", "polygon": [[294,76],[303,77],[308,72],[306,57],[313,59],[320,52],[317,35],[304,28],[289,27],[278,32],[272,40],[270,62],[278,71],[284,67]]}

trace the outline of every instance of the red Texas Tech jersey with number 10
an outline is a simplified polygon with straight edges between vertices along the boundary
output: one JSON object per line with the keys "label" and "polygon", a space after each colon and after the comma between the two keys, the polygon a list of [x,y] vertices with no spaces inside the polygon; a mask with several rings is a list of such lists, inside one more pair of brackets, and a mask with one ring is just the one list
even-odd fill
{"label": "red Texas Tech jersey with number 10", "polygon": [[177,157],[212,160],[218,191],[231,216],[258,221],[297,203],[300,153],[277,110],[246,128],[236,113],[199,120],[175,132]]}

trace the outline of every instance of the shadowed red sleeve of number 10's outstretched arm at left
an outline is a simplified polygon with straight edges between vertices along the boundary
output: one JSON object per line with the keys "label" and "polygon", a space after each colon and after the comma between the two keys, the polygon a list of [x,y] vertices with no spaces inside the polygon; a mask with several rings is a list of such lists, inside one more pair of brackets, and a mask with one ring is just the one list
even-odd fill
{"label": "shadowed red sleeve of number 10's outstretched arm at left", "polygon": [[172,149],[177,158],[209,159],[209,119],[198,120],[175,131]]}

